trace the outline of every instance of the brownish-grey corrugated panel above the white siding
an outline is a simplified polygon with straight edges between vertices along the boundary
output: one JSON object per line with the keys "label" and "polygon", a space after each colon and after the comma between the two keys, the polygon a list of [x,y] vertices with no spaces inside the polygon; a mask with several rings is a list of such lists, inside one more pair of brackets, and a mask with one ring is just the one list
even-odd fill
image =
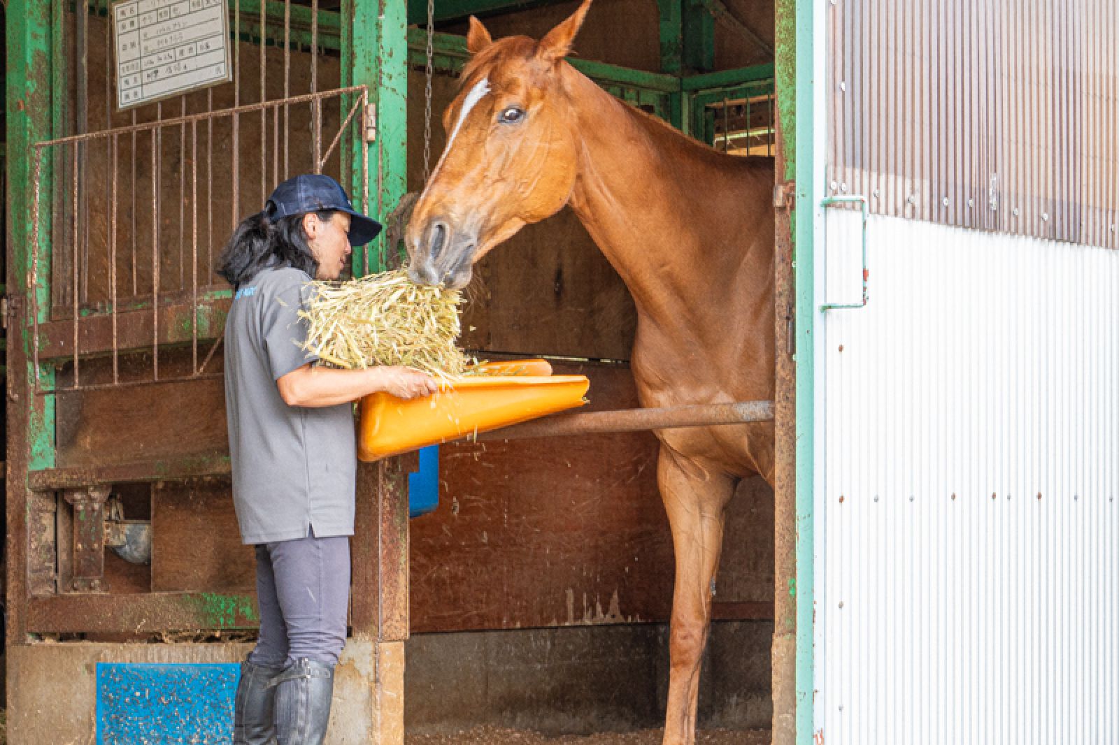
{"label": "brownish-grey corrugated panel above the white siding", "polygon": [[834,194],[1119,247],[1119,3],[829,1]]}

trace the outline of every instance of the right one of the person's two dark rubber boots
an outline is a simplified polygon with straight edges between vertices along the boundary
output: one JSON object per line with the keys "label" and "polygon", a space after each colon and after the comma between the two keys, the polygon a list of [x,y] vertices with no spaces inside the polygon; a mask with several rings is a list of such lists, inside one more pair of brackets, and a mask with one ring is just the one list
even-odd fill
{"label": "right one of the person's two dark rubber boots", "polygon": [[322,745],[330,724],[335,669],[300,658],[272,679],[276,689],[275,727],[279,745]]}

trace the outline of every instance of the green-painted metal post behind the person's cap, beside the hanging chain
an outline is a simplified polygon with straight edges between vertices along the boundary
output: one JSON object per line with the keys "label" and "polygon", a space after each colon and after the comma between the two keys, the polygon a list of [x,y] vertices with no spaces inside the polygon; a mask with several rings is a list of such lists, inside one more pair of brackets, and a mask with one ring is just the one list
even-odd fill
{"label": "green-painted metal post behind the person's cap, beside the hanging chain", "polygon": [[[369,103],[376,107],[376,138],[372,143],[354,143],[350,181],[356,198],[364,186],[360,149],[367,148],[368,209],[373,217],[382,219],[407,190],[407,6],[389,0],[350,0],[346,15],[350,22],[344,23],[342,47],[349,47],[344,50],[349,63],[344,67],[348,69],[348,84],[368,86]],[[356,274],[366,267],[385,268],[384,234],[365,252],[365,256],[355,252]]]}

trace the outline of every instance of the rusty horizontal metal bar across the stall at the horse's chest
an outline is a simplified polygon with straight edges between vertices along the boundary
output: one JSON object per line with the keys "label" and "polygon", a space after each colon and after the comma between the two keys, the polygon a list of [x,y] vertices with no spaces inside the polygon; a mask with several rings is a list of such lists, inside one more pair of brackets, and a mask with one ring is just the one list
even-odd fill
{"label": "rusty horizontal metal bar across the stall at the horse's chest", "polygon": [[[563,437],[568,435],[645,432],[673,427],[700,427],[724,424],[771,422],[773,402],[747,400],[734,404],[703,404],[665,408],[627,408],[615,412],[558,414],[538,422],[526,422],[478,435],[478,441]],[[473,438],[473,437],[471,437]]]}

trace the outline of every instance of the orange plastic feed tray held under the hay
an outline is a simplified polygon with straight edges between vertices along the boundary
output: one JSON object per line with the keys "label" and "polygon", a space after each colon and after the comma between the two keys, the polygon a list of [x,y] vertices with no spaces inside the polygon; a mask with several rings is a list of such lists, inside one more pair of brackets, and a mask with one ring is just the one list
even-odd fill
{"label": "orange plastic feed tray held under the hay", "polygon": [[376,461],[582,406],[591,385],[582,375],[551,375],[544,360],[482,367],[491,375],[440,384],[439,393],[423,398],[403,400],[386,393],[363,398],[358,458]]}

